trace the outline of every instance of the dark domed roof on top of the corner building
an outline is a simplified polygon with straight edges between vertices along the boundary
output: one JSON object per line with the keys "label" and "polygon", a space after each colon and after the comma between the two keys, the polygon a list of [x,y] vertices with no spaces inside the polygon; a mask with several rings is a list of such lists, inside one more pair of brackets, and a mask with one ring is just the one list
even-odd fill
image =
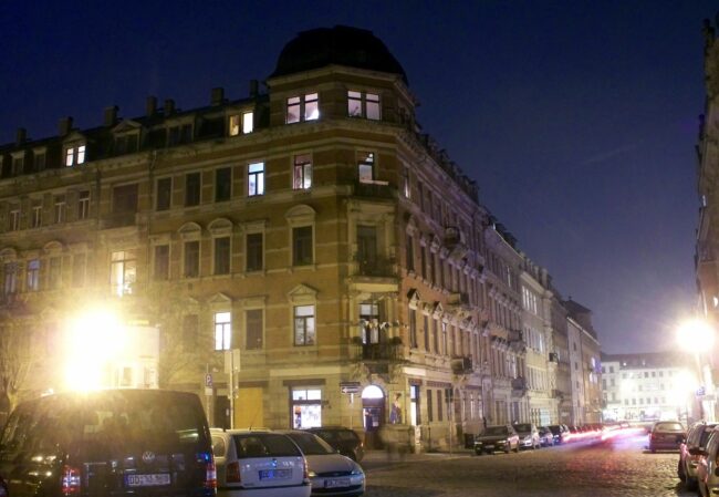
{"label": "dark domed roof on top of the corner building", "polygon": [[387,46],[372,31],[335,25],[302,31],[284,45],[274,72],[270,77],[337,64],[369,71],[399,74],[405,82],[407,74]]}

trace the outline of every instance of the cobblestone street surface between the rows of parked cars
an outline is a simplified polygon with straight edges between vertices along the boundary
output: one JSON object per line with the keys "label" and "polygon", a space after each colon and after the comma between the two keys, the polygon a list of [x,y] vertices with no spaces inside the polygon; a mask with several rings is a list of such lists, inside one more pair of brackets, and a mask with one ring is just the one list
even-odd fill
{"label": "cobblestone street surface between the rows of parked cars", "polygon": [[652,454],[646,435],[573,443],[520,454],[417,454],[365,460],[366,497],[689,497],[678,453]]}

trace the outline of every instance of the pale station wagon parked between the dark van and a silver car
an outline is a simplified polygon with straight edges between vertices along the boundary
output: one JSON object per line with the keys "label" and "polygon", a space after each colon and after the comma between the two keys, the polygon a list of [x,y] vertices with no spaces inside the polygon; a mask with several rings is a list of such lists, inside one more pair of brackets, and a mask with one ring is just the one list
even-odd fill
{"label": "pale station wagon parked between the dark van and a silver car", "polygon": [[212,428],[218,497],[309,497],[308,462],[275,432]]}

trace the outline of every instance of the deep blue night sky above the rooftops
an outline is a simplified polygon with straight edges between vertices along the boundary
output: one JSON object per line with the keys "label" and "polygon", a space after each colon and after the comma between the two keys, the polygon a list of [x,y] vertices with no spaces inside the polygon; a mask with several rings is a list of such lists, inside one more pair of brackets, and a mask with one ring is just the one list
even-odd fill
{"label": "deep blue night sky above the rooftops", "polygon": [[248,95],[303,30],[368,29],[481,203],[594,312],[603,350],[674,344],[697,302],[701,22],[716,1],[0,2],[0,143],[103,108]]}

